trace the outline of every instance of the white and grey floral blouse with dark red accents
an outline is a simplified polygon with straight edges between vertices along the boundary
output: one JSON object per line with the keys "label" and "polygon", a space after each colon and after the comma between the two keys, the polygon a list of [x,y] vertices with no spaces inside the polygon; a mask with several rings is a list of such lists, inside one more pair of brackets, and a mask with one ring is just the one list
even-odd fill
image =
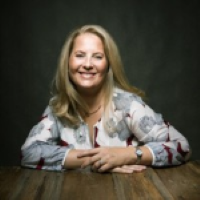
{"label": "white and grey floral blouse with dark red accents", "polygon": [[107,131],[103,120],[94,125],[93,144],[83,120],[79,126],[64,125],[47,106],[21,147],[21,165],[61,171],[70,149],[129,145],[147,146],[155,167],[180,165],[186,161],[187,139],[139,96],[115,88],[112,105],[114,113],[106,122]]}

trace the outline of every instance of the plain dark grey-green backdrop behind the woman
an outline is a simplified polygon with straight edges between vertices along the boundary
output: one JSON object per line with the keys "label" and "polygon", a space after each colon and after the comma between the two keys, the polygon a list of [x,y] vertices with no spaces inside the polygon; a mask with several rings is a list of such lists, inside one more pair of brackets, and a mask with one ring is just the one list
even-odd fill
{"label": "plain dark grey-green backdrop behind the woman", "polygon": [[12,0],[1,3],[0,165],[19,165],[20,148],[50,97],[66,35],[105,27],[119,46],[130,82],[189,140],[200,127],[198,0]]}

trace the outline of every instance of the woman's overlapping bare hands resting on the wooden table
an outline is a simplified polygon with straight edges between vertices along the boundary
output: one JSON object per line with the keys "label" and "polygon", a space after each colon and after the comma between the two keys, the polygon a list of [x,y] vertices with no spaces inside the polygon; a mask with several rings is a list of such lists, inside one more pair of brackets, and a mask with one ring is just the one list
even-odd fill
{"label": "woman's overlapping bare hands resting on the wooden table", "polygon": [[77,158],[87,158],[81,168],[90,166],[95,172],[133,173],[146,169],[145,165],[134,165],[133,147],[101,147],[83,150]]}

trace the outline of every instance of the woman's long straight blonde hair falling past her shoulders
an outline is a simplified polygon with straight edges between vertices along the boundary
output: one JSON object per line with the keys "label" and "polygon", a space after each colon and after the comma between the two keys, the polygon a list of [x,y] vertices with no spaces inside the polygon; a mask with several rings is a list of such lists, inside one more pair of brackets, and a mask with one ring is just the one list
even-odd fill
{"label": "woman's long straight blonde hair falling past her shoulders", "polygon": [[53,98],[50,101],[55,115],[72,125],[78,125],[80,123],[77,107],[81,108],[85,113],[88,112],[88,105],[78,94],[68,75],[69,56],[72,52],[74,41],[77,36],[84,33],[95,34],[101,39],[104,45],[104,51],[109,65],[109,71],[104,84],[104,109],[106,113],[108,113],[112,101],[114,87],[119,87],[140,96],[143,95],[142,91],[129,84],[124,73],[119,50],[111,35],[99,25],[82,26],[74,30],[64,43],[58,62],[58,68],[53,80]]}

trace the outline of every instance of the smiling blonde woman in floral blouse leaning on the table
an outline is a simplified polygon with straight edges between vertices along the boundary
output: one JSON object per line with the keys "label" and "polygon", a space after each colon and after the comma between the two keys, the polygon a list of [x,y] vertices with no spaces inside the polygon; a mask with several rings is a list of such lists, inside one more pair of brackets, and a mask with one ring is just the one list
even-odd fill
{"label": "smiling blonde woman in floral blouse leaning on the table", "polygon": [[69,35],[53,86],[21,148],[22,166],[132,173],[188,160],[187,139],[128,83],[118,48],[102,27],[86,25]]}

